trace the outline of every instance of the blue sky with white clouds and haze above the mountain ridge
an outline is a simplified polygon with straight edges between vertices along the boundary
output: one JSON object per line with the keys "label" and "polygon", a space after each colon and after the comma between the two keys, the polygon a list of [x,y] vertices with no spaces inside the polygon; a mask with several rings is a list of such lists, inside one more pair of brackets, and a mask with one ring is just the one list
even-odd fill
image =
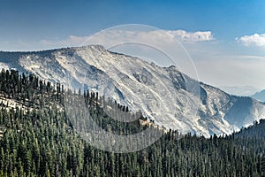
{"label": "blue sky with white clouds and haze above the mountain ridge", "polygon": [[[79,46],[102,30],[140,24],[157,28],[155,32],[161,29],[184,46],[197,75],[188,68],[184,72],[192,77],[214,86],[265,89],[264,17],[265,1],[259,0],[3,0],[0,50]],[[113,36],[120,40],[149,36],[126,30]],[[154,34],[149,37],[159,36]]]}

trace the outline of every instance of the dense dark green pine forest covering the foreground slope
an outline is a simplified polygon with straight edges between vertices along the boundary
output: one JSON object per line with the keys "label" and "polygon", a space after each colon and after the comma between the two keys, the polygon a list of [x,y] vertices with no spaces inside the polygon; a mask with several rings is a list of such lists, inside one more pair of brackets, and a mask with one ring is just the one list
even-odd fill
{"label": "dense dark green pine forest covering the foreground slope", "polygon": [[[65,96],[84,99],[97,124],[119,135],[149,128],[163,136],[144,150],[114,153],[98,150],[74,130],[65,112]],[[71,91],[33,74],[0,73],[0,176],[265,176],[265,120],[239,133],[209,139],[180,135],[108,115],[127,112],[97,93]],[[104,112],[108,105],[111,112]]]}

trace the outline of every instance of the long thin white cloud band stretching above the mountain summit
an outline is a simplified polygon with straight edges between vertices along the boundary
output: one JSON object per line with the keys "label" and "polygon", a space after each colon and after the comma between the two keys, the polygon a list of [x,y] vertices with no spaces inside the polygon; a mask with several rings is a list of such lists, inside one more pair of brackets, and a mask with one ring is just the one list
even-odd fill
{"label": "long thin white cloud band stretching above the mountain summit", "polygon": [[[163,39],[163,41],[161,40]],[[186,32],[185,30],[153,30],[153,31],[130,31],[130,30],[107,30],[92,36],[76,36],[70,35],[63,40],[47,40],[41,41],[42,45],[50,47],[71,47],[87,44],[102,44],[108,48],[110,43],[122,42],[153,42],[162,43],[164,45],[170,44],[172,40],[178,42],[194,43],[207,42],[214,40],[210,31],[197,31],[194,33]]]}

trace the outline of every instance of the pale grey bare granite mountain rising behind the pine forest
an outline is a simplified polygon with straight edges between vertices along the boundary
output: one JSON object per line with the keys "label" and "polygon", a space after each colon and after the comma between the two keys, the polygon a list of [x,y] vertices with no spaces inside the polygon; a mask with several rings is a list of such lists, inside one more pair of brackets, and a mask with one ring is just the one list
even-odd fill
{"label": "pale grey bare granite mountain rising behind the pine forest", "polygon": [[251,97],[231,96],[194,81],[175,66],[150,64],[99,45],[0,52],[0,62],[66,88],[96,91],[183,134],[231,134],[265,116],[265,105]]}

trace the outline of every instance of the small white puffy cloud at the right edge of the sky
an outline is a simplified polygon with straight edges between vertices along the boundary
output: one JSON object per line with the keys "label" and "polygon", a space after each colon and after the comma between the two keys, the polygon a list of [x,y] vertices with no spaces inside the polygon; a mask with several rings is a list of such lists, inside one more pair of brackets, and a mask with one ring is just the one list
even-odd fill
{"label": "small white puffy cloud at the right edge of the sky", "polygon": [[236,40],[246,46],[265,46],[265,34],[244,35]]}

